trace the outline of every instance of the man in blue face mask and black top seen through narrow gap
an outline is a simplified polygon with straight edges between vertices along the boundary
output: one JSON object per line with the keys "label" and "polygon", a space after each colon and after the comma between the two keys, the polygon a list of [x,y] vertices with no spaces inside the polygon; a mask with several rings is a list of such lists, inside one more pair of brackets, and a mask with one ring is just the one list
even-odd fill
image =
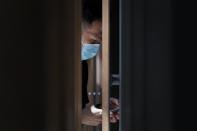
{"label": "man in blue face mask and black top seen through narrow gap", "polygon": [[[87,96],[88,65],[86,60],[94,58],[102,42],[102,0],[82,0],[82,124],[98,126],[102,122],[101,114],[90,110]],[[110,106],[118,107],[119,102],[110,98]],[[110,115],[110,122],[119,119],[119,113]]]}

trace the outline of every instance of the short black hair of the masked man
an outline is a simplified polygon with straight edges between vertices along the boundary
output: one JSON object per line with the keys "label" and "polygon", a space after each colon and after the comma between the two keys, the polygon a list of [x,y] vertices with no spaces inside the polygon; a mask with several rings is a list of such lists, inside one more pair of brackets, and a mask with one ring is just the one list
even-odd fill
{"label": "short black hair of the masked man", "polygon": [[82,21],[92,24],[102,19],[102,0],[82,0]]}

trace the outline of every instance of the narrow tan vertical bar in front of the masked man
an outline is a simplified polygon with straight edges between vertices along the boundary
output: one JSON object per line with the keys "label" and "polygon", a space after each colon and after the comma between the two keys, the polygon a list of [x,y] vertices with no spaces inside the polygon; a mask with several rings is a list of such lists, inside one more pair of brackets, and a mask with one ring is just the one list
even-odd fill
{"label": "narrow tan vertical bar in front of the masked man", "polygon": [[109,131],[110,0],[102,1],[102,131]]}

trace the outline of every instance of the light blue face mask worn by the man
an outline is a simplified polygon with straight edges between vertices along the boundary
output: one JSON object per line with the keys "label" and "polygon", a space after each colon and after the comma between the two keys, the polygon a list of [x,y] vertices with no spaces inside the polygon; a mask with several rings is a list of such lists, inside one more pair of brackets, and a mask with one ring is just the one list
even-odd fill
{"label": "light blue face mask worn by the man", "polygon": [[81,60],[91,59],[96,56],[100,44],[82,44]]}

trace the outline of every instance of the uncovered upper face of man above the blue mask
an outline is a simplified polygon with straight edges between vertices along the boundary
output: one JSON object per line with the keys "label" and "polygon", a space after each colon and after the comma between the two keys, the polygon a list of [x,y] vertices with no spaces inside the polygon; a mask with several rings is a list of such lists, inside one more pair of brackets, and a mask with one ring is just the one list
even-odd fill
{"label": "uncovered upper face of man above the blue mask", "polygon": [[100,44],[102,41],[102,24],[100,21],[94,21],[86,26],[82,33],[82,42],[87,44]]}

